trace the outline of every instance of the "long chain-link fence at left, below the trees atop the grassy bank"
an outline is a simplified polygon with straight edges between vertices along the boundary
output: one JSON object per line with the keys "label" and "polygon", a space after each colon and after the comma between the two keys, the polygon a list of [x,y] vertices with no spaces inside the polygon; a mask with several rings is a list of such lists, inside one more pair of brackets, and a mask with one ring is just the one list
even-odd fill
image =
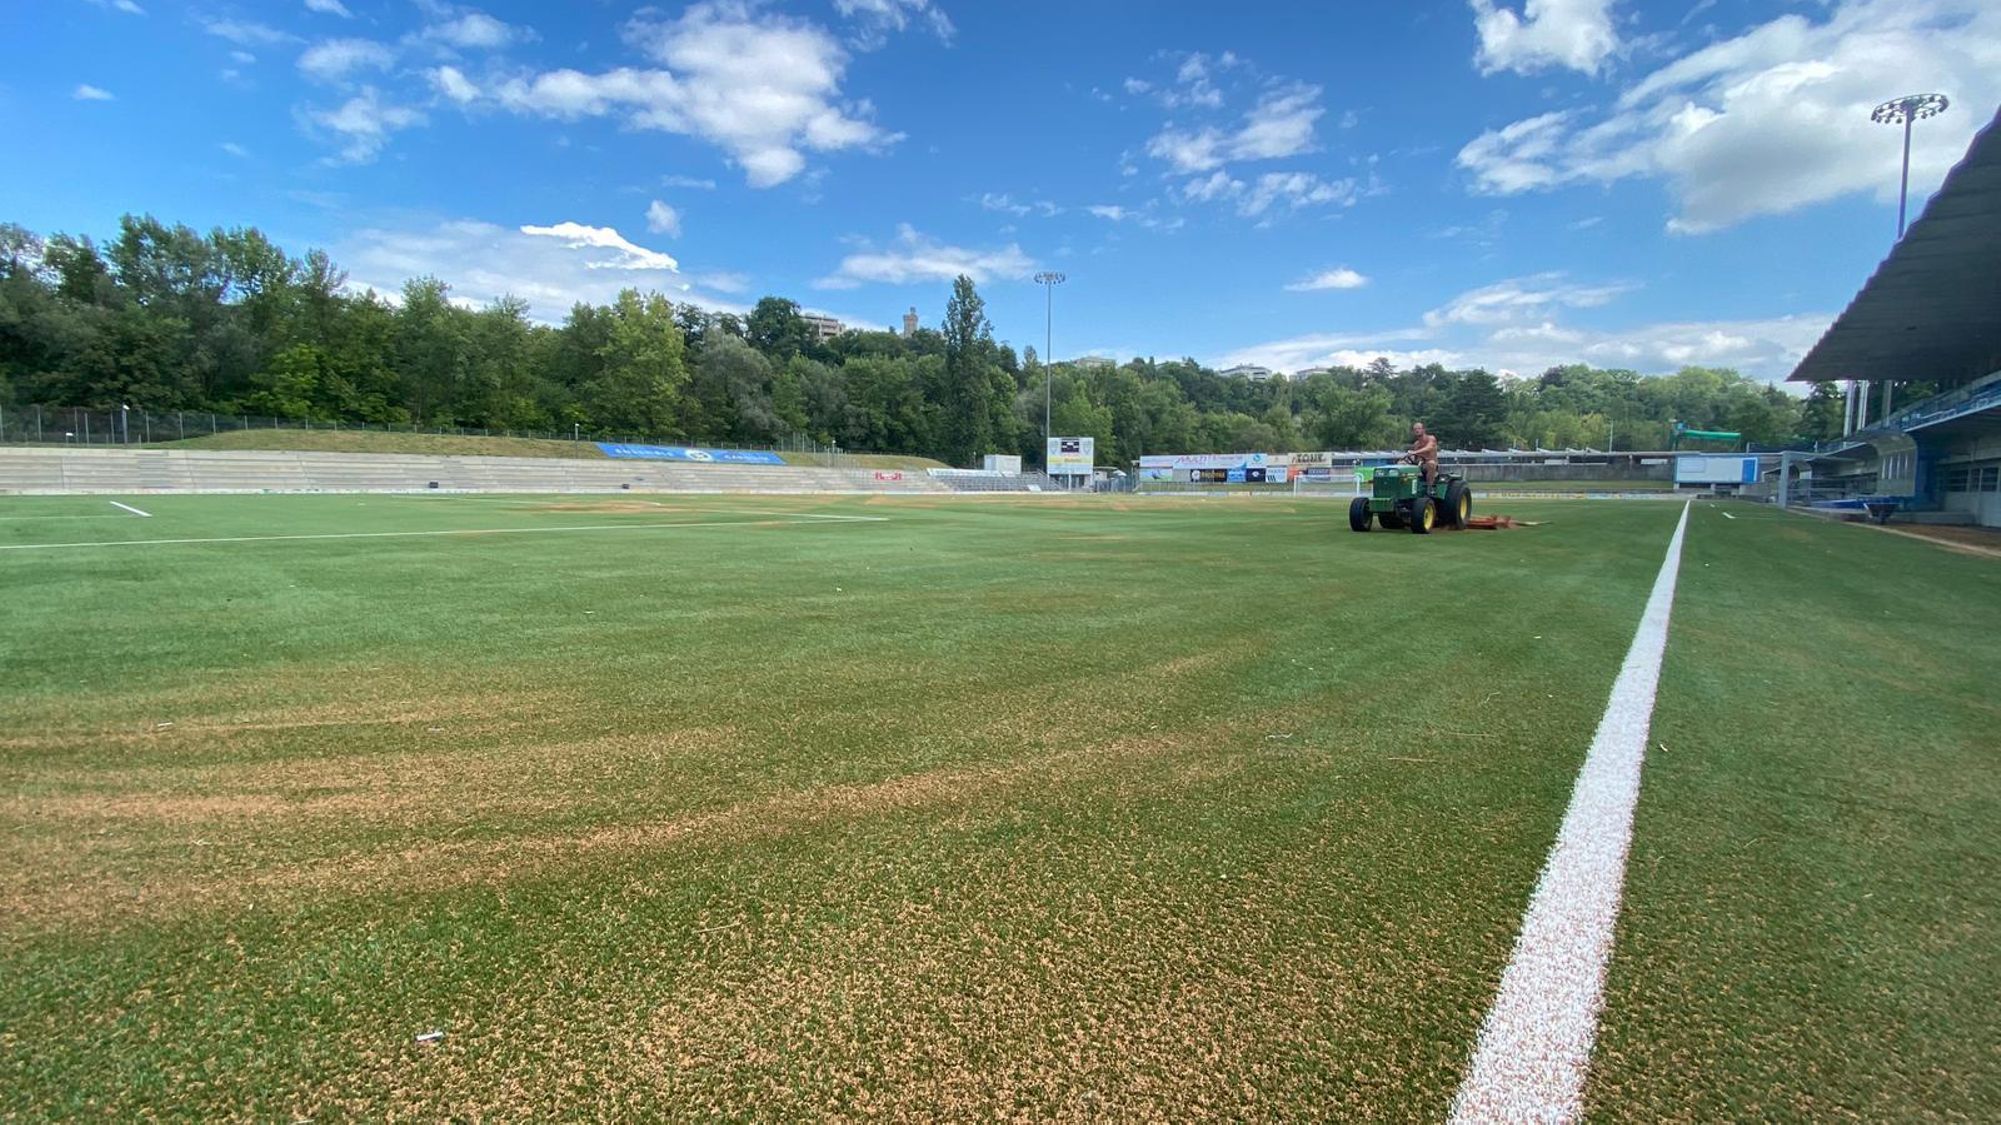
{"label": "long chain-link fence at left, below the trees atop the grassy bank", "polygon": [[[318,430],[318,432],[378,432],[378,434],[444,434],[468,438],[538,438],[562,442],[622,442],[668,444],[728,450],[768,450],[784,454],[794,464],[826,468],[862,468],[854,450],[822,444],[806,436],[790,436],[768,444],[704,442],[678,436],[628,434],[572,426],[562,430],[490,430],[462,426],[418,426],[394,422],[338,422],[312,418],[272,418],[262,414],[228,414],[218,410],[86,410],[82,406],[0,406],[0,442],[26,444],[158,444],[244,430]],[[580,454],[582,456],[582,454]]]}

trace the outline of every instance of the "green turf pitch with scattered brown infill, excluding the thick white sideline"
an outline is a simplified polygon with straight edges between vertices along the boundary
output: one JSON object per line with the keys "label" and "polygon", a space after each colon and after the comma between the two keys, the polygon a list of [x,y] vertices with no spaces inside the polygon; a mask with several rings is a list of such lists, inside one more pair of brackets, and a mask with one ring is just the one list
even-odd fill
{"label": "green turf pitch with scattered brown infill, excluding the thick white sideline", "polygon": [[[1681,512],[120,500],[0,498],[6,1117],[1437,1119]],[[1693,508],[1593,1115],[1995,1113],[1997,567]]]}

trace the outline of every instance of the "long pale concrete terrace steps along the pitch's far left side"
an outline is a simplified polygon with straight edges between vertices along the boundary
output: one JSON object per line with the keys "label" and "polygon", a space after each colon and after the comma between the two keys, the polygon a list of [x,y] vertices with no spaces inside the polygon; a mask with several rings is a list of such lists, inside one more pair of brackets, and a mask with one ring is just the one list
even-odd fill
{"label": "long pale concrete terrace steps along the pitch's far left side", "polygon": [[920,472],[534,456],[0,446],[0,492],[944,492]]}

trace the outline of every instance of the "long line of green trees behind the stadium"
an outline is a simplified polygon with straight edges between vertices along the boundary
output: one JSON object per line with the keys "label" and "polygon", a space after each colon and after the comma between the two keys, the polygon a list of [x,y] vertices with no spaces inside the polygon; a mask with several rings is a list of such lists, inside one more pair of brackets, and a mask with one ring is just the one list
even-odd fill
{"label": "long line of green trees behind the stadium", "polygon": [[1583,364],[1501,378],[1389,360],[1303,380],[1225,378],[1193,358],[1051,364],[992,336],[956,278],[936,328],[820,340],[798,304],[744,314],[624,290],[538,324],[432,276],[354,292],[322,250],[256,228],[126,216],[106,242],[0,224],[0,402],[272,414],[314,422],[644,434],[688,444],[1041,462],[1053,430],[1101,464],[1145,452],[1389,448],[1425,420],[1449,448],[1665,448],[1673,420],[1783,444],[1839,434],[1841,396],[1795,398],[1727,368],[1643,376]]}

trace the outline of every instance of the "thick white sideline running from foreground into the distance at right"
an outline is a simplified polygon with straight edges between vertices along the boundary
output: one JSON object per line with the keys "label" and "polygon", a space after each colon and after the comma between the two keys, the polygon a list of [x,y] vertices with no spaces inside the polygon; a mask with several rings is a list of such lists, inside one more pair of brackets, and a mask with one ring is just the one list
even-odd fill
{"label": "thick white sideline running from foreground into the distance at right", "polygon": [[1689,506],[1683,504],[1543,879],[1521,919],[1515,955],[1501,973],[1501,989],[1453,1099],[1453,1121],[1575,1121],[1583,1115],[1687,528]]}

